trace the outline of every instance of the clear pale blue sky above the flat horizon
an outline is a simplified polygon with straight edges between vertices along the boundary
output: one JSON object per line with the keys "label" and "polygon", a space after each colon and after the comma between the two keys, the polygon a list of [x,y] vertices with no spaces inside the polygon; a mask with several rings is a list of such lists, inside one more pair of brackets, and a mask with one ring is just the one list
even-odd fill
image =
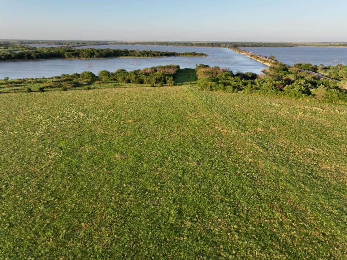
{"label": "clear pale blue sky above the flat horizon", "polygon": [[347,0],[0,0],[0,39],[344,41]]}

